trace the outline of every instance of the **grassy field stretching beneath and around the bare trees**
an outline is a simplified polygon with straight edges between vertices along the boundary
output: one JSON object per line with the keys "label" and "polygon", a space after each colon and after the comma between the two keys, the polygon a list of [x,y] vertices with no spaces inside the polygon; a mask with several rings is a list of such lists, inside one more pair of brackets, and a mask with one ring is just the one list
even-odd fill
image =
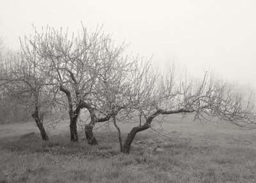
{"label": "grassy field stretching beneath and around the bare trees", "polygon": [[[68,122],[46,128],[35,123],[0,125],[0,182],[256,182],[256,133],[230,124],[166,118],[164,136],[151,129],[120,154],[113,127],[95,136],[99,146],[70,143]],[[120,125],[125,139],[131,125]],[[155,126],[157,129],[157,125]]]}

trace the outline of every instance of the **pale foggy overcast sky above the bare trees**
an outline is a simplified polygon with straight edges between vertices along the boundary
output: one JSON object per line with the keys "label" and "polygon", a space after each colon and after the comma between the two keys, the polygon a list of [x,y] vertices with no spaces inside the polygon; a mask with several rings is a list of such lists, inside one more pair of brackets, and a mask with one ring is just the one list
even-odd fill
{"label": "pale foggy overcast sky above the bare trees", "polygon": [[164,67],[175,61],[192,76],[211,67],[223,79],[256,88],[256,1],[0,0],[0,36],[19,49],[19,36],[51,26],[104,32]]}

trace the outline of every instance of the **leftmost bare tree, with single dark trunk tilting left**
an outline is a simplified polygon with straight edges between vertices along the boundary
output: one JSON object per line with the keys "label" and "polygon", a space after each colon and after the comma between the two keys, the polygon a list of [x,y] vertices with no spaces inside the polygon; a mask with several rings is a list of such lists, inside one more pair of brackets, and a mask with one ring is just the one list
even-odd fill
{"label": "leftmost bare tree, with single dark trunk tilting left", "polygon": [[43,125],[44,109],[54,105],[51,79],[28,60],[38,61],[35,52],[29,57],[24,54],[9,54],[1,60],[1,89],[8,104],[22,107],[31,113],[42,139],[49,140]]}

